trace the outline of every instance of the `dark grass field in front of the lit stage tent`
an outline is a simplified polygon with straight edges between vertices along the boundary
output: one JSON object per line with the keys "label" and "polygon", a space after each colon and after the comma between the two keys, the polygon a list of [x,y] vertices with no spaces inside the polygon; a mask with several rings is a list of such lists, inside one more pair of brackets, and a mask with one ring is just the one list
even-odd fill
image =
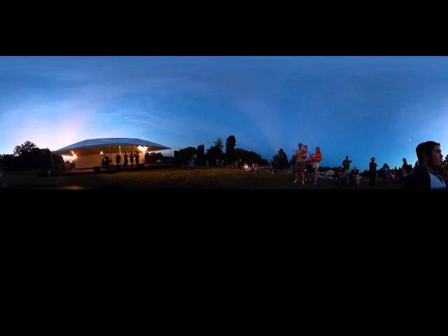
{"label": "dark grass field in front of the lit stage tent", "polygon": [[[125,189],[315,189],[311,182],[306,186],[293,184],[291,174],[244,172],[228,168],[169,168],[139,170],[116,174],[71,174],[64,176],[36,177],[36,172],[3,172],[1,183],[5,188],[125,188]],[[370,188],[369,180],[361,181],[362,189],[402,189],[397,183],[386,186],[377,179],[377,186]],[[316,189],[339,189],[335,180],[319,179]],[[353,189],[355,187],[342,187]]]}

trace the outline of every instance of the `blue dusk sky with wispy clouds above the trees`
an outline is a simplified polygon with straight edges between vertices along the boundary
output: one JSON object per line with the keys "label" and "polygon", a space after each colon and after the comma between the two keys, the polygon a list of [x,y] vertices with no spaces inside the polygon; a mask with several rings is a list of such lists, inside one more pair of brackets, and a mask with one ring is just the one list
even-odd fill
{"label": "blue dusk sky with wispy clouds above the trees", "polygon": [[448,151],[448,57],[0,57],[0,153],[130,137],[174,150],[230,135],[323,166]]}

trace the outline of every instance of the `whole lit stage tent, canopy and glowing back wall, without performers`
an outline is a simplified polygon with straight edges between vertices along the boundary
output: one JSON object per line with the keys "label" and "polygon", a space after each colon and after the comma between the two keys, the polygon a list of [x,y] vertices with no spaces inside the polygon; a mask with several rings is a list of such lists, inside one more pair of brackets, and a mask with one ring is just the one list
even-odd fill
{"label": "whole lit stage tent, canopy and glowing back wall, without performers", "polygon": [[93,168],[101,166],[101,152],[108,153],[109,160],[113,164],[116,162],[116,155],[120,154],[121,163],[123,164],[125,153],[138,152],[140,163],[144,163],[146,152],[166,151],[168,149],[171,148],[142,139],[106,138],[80,141],[53,151],[53,153],[76,158],[76,168]]}

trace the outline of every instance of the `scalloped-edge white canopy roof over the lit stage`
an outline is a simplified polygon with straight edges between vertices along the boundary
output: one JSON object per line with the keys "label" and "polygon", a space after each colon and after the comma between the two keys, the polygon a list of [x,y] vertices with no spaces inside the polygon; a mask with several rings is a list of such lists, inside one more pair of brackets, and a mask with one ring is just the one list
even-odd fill
{"label": "scalloped-edge white canopy roof over the lit stage", "polygon": [[153,151],[165,151],[171,149],[167,146],[155,144],[151,141],[133,138],[106,138],[106,139],[89,139],[77,142],[76,144],[60,148],[53,153],[58,155],[99,155],[100,152],[104,153],[118,153],[120,152],[153,152]]}

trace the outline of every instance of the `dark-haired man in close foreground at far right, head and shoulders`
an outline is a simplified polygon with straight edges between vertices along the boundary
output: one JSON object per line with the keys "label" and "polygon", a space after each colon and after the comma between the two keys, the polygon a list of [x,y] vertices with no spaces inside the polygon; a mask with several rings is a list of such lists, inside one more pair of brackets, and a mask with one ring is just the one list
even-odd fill
{"label": "dark-haired man in close foreground at far right, head and shoulders", "polygon": [[444,189],[447,183],[439,174],[442,167],[442,151],[440,144],[435,141],[426,141],[415,148],[419,167],[405,179],[405,189]]}

